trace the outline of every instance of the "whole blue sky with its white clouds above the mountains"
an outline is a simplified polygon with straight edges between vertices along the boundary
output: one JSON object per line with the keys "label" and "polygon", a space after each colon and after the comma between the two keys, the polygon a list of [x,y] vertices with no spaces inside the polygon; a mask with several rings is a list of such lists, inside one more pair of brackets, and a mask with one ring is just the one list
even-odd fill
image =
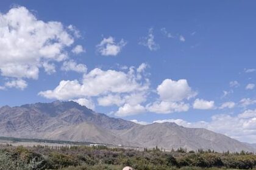
{"label": "whole blue sky with its white clouds above the mountains", "polygon": [[76,100],[254,142],[255,5],[1,1],[0,106]]}

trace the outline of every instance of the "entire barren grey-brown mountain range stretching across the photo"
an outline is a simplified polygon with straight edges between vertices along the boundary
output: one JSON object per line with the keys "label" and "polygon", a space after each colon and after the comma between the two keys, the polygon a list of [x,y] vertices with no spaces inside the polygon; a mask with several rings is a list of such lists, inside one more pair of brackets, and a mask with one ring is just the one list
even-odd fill
{"label": "entire barren grey-brown mountain range stretching across the photo", "polygon": [[0,108],[0,136],[88,141],[123,146],[164,149],[187,148],[222,151],[256,149],[226,135],[176,123],[141,125],[99,114],[74,101],[3,106]]}

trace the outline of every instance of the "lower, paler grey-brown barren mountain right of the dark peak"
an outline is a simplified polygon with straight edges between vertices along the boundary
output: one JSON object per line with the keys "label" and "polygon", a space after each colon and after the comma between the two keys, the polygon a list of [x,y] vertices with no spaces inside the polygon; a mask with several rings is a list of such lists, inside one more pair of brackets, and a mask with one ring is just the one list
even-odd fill
{"label": "lower, paler grey-brown barren mountain right of the dark peak", "polygon": [[127,131],[117,131],[118,135],[130,142],[143,143],[148,147],[187,148],[188,150],[212,149],[222,151],[252,151],[249,146],[202,128],[187,128],[176,123],[154,123],[134,126]]}

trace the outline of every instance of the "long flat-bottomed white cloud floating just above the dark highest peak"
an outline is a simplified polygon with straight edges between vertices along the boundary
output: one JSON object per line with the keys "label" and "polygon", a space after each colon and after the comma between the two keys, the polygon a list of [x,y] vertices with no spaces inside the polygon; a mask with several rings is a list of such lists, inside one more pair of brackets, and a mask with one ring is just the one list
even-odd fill
{"label": "long flat-bottomed white cloud floating just above the dark highest peak", "polygon": [[126,94],[148,90],[147,79],[137,80],[133,67],[127,72],[116,70],[101,70],[99,68],[84,74],[81,82],[77,80],[62,80],[54,90],[40,92],[46,98],[68,100],[77,97],[100,97],[108,94]]}

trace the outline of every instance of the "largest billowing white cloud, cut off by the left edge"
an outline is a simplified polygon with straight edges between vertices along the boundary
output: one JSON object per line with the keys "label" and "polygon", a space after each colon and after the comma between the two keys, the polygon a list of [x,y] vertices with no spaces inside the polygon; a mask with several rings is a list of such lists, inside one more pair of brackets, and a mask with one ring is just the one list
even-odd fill
{"label": "largest billowing white cloud, cut off by the left edge", "polygon": [[65,60],[65,47],[74,42],[61,22],[38,20],[25,7],[0,14],[0,25],[0,70],[4,77],[37,79],[40,67],[52,72],[45,63]]}

